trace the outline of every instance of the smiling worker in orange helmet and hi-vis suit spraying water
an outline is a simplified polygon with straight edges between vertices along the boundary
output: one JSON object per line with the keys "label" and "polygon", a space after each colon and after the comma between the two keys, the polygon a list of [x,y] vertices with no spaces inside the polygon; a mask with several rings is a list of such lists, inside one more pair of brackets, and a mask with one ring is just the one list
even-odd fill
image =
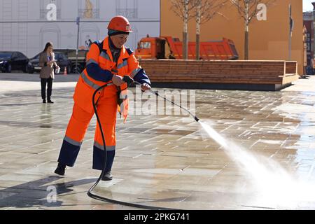
{"label": "smiling worker in orange helmet and hi-vis suit spraying water", "polygon": [[[128,35],[132,32],[130,22],[123,16],[116,16],[109,22],[108,29],[109,36],[101,43],[94,42],[87,53],[86,69],[80,74],[73,94],[73,113],[59,153],[56,174],[64,175],[66,166],[73,167],[87,127],[94,115],[92,95],[97,88],[107,84],[102,91],[97,92],[95,102],[97,102],[97,112],[104,131],[107,152],[102,180],[113,179],[111,167],[116,150],[116,113],[119,107],[124,121],[127,118],[127,105],[118,105],[118,95],[127,89],[123,76],[130,76],[141,83],[142,91],[151,89],[150,79],[144,69],[139,66],[134,52],[124,46]],[[120,97],[122,97],[121,94]],[[127,101],[124,100],[123,103],[125,102]],[[104,145],[99,124],[97,124],[92,168],[102,170],[104,163]]]}

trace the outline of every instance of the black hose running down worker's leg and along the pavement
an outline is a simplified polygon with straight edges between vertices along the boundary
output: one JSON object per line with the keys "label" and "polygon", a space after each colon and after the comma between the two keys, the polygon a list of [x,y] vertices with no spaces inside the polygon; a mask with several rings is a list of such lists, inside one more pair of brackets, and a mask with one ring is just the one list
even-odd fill
{"label": "black hose running down worker's leg and along the pavement", "polygon": [[137,208],[140,208],[140,209],[152,209],[152,210],[174,210],[174,209],[165,208],[165,207],[153,207],[153,206],[148,206],[148,205],[144,205],[144,204],[135,204],[135,203],[131,203],[131,202],[121,202],[121,201],[118,201],[118,200],[112,200],[112,199],[109,199],[109,198],[106,198],[106,197],[102,197],[102,196],[99,196],[99,195],[94,195],[92,193],[92,190],[94,190],[94,188],[97,186],[99,181],[101,181],[102,177],[104,176],[105,169],[106,169],[106,163],[107,163],[107,154],[106,154],[106,144],[105,144],[104,132],[103,132],[103,129],[102,129],[101,120],[99,119],[99,115],[97,113],[97,104],[95,104],[95,95],[97,94],[97,92],[99,92],[100,90],[102,90],[106,86],[107,86],[107,84],[106,85],[102,85],[97,90],[95,90],[95,92],[93,94],[93,98],[92,98],[92,104],[93,104],[94,113],[95,113],[95,116],[97,117],[97,123],[99,124],[99,130],[101,131],[102,140],[103,140],[103,144],[104,144],[104,167],[102,169],[101,175],[99,175],[99,179],[97,179],[97,181],[90,188],[90,190],[87,191],[87,195],[89,197],[92,197],[95,200],[100,200],[100,201],[104,201],[104,202],[111,202],[111,203],[115,203],[115,204],[122,204],[122,205],[125,205],[125,206],[128,206],[128,207],[137,207]]}

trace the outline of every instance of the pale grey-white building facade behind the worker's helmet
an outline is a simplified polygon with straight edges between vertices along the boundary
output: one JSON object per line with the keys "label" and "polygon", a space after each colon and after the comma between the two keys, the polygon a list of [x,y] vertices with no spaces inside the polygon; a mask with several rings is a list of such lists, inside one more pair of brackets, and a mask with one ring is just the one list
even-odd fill
{"label": "pale grey-white building facade behind the worker's helmet", "polygon": [[115,15],[124,15],[133,33],[127,42],[137,48],[140,38],[160,35],[159,0],[0,0],[0,50],[18,50],[33,57],[52,41],[54,48],[76,48],[107,35]]}

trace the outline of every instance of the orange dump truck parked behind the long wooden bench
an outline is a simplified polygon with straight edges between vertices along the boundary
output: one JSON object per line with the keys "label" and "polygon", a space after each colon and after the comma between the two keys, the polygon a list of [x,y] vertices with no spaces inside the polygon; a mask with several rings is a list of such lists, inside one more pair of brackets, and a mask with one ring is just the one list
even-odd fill
{"label": "orange dump truck parked behind the long wooden bench", "polygon": [[[160,36],[141,38],[136,50],[139,59],[183,59],[183,43],[179,38]],[[188,43],[188,59],[196,59],[196,43]],[[200,59],[239,59],[233,41],[223,38],[222,41],[200,42]]]}

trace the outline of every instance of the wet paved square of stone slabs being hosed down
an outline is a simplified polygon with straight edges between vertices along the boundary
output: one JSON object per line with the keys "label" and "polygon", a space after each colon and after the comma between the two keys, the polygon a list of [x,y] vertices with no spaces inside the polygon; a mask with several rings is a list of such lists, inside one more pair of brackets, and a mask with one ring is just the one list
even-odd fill
{"label": "wet paved square of stone slabs being hosed down", "polygon": [[[0,209],[134,209],[87,196],[99,176],[92,170],[95,118],[75,167],[64,177],[53,173],[78,76],[58,76],[55,104],[41,104],[37,76],[14,76],[23,75],[13,80],[0,74],[0,85],[6,86],[0,91]],[[263,156],[276,162],[311,188],[314,86],[315,77],[309,77],[281,92],[196,90],[195,112],[258,161]],[[112,200],[172,209],[315,209],[313,190],[304,190],[309,188],[289,191],[286,200],[265,197],[260,172],[239,167],[187,115],[132,115],[125,125],[118,119],[116,148],[113,181],[102,181],[94,190]],[[279,195],[282,189],[273,191],[277,186],[263,178],[264,188],[271,189],[267,195]],[[296,198],[303,190],[307,197]]]}

